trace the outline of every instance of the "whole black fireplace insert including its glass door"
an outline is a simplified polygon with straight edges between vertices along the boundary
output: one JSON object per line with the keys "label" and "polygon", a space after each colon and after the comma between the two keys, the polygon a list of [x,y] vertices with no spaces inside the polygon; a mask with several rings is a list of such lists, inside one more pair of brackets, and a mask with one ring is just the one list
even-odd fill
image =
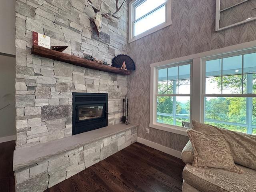
{"label": "whole black fireplace insert including its glass door", "polygon": [[72,124],[73,135],[108,126],[108,94],[73,93]]}

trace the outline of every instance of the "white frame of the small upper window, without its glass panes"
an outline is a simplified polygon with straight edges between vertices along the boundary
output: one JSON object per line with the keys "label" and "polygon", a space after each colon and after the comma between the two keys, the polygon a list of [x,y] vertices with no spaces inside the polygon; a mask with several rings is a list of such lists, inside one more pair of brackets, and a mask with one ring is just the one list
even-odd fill
{"label": "white frame of the small upper window, without its glass panes", "polygon": [[[159,24],[158,26],[155,26],[137,36],[134,36],[134,22],[136,22],[137,20],[140,20],[137,19],[135,20],[135,8],[142,4],[143,2],[145,2],[146,0],[132,0],[130,3],[129,3],[129,43],[130,42],[133,42],[133,41],[136,41],[142,37],[145,37],[149,34],[152,34],[162,28],[165,28],[167,26],[170,26],[172,24],[172,0],[166,0],[165,2],[165,7],[166,7],[166,22],[164,23],[161,23]],[[145,14],[144,16],[142,16],[141,18],[147,16],[148,14],[154,12],[155,10],[157,10],[158,8],[160,8],[162,5],[158,6],[157,8],[155,8],[154,10],[148,12],[147,14]]]}

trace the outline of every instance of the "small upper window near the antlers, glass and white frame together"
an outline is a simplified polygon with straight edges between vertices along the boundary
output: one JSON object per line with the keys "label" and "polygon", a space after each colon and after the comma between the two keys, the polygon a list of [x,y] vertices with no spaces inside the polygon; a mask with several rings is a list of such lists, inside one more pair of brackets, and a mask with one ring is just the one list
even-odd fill
{"label": "small upper window near the antlers, glass and white frame together", "polygon": [[129,42],[171,24],[171,0],[133,0],[129,7]]}

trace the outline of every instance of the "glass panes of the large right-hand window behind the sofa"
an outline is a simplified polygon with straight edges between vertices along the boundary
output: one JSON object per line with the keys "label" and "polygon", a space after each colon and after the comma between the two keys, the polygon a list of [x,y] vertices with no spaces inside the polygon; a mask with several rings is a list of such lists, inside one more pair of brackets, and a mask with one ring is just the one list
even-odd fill
{"label": "glass panes of the large right-hand window behind the sofa", "polygon": [[204,122],[256,134],[256,53],[205,61]]}

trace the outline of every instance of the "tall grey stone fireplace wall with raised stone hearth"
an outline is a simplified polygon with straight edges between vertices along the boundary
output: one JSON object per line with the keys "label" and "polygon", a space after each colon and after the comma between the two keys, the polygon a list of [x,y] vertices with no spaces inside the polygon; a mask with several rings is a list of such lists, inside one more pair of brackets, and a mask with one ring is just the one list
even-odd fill
{"label": "tall grey stone fireplace wall with raised stone hearth", "polygon": [[[115,0],[99,3],[109,12]],[[43,192],[136,142],[136,125],[120,125],[127,76],[31,54],[35,31],[50,36],[51,46],[68,46],[66,54],[90,54],[111,64],[116,55],[127,54],[128,2],[122,11],[118,22],[103,18],[98,38],[87,1],[16,0],[17,192]],[[79,101],[81,96],[100,100]],[[79,129],[80,123],[94,120],[99,124]]]}

